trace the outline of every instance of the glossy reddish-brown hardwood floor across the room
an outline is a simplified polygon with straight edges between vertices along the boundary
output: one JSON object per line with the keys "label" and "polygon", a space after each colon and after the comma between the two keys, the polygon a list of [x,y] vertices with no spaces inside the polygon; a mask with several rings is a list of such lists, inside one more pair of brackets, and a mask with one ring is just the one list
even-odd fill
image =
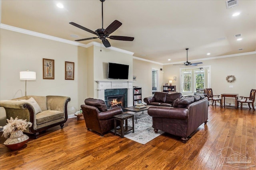
{"label": "glossy reddish-brown hardwood floor across the room", "polygon": [[68,119],[64,129],[53,127],[30,139],[20,150],[8,150],[5,140],[0,138],[1,170],[234,169],[235,163],[220,166],[228,156],[237,156],[238,168],[256,169],[256,111],[248,108],[210,105],[207,125],[186,144],[167,133],[145,145],[113,133],[100,137],[76,118]]}

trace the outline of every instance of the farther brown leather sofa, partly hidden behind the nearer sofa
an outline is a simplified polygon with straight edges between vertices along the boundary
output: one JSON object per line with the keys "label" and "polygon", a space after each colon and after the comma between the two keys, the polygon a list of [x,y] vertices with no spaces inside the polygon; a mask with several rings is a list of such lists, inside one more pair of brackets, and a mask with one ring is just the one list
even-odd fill
{"label": "farther brown leather sofa, partly hidden behind the nearer sofa", "polygon": [[173,101],[181,97],[181,93],[155,92],[154,96],[144,98],[144,102],[152,106],[172,107]]}

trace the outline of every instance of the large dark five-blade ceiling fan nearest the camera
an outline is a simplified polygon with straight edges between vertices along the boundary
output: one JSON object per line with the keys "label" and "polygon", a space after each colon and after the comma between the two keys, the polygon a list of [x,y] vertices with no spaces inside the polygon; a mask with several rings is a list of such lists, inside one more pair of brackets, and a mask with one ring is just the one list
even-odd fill
{"label": "large dark five-blade ceiling fan nearest the camera", "polygon": [[114,20],[110,25],[108,25],[108,27],[106,29],[103,28],[103,2],[104,1],[105,0],[100,0],[100,2],[102,2],[102,28],[99,28],[99,29],[96,29],[95,31],[92,31],[92,30],[90,30],[86,27],[78,25],[77,23],[70,22],[71,25],[74,25],[75,27],[83,29],[84,31],[87,31],[89,33],[93,33],[93,34],[97,35],[98,37],[77,39],[75,41],[85,41],[85,40],[89,40],[89,39],[100,38],[105,47],[110,47],[111,45],[110,45],[109,41],[106,38],[115,39],[115,40],[122,40],[122,41],[133,41],[134,40],[134,37],[109,36],[111,33],[116,31],[116,29],[118,29],[122,25],[122,23],[119,22],[118,20]]}

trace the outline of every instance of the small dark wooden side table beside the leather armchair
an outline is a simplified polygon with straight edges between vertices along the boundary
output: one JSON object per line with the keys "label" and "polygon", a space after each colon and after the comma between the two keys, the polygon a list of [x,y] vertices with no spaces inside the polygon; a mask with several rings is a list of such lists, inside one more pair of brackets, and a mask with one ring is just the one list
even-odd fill
{"label": "small dark wooden side table beside the leather armchair", "polygon": [[[128,119],[132,118],[132,127],[128,126]],[[116,120],[120,121],[120,129],[116,129]],[[125,121],[125,126],[124,126]],[[134,114],[130,113],[122,113],[120,115],[114,116],[114,128],[115,128],[115,135],[116,132],[121,134],[121,137],[124,137],[124,133],[132,130],[132,133],[134,133]]]}

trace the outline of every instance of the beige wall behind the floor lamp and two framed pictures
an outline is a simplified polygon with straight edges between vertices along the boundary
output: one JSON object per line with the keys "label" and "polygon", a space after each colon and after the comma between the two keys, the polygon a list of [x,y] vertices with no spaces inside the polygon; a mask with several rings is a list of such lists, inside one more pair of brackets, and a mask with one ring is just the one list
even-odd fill
{"label": "beige wall behind the floor lamp and two framed pictures", "polygon": [[[36,72],[36,80],[27,81],[27,95],[69,96],[68,114],[80,109],[87,97],[86,48],[6,29],[0,31],[0,100],[25,96],[25,80],[20,80],[19,72],[28,69]],[[54,80],[42,78],[43,58],[54,59]],[[75,63],[74,80],[65,80],[65,61]]]}

